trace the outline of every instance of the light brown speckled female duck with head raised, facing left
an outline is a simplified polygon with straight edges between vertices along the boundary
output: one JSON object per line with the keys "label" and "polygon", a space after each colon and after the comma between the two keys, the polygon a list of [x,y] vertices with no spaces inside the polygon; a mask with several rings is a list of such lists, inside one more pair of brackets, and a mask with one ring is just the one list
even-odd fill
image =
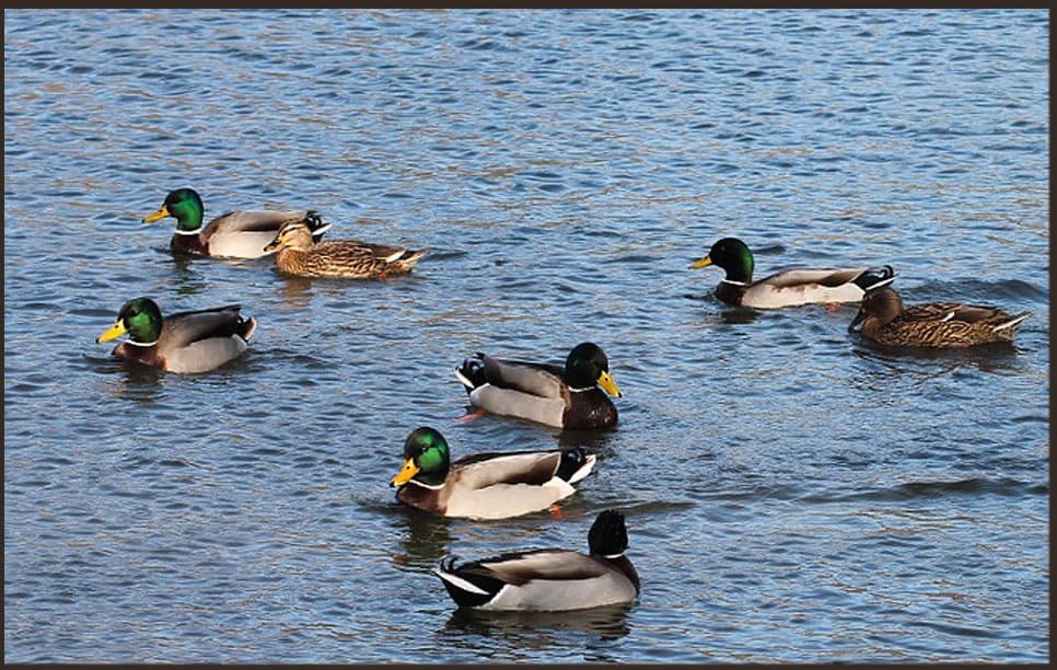
{"label": "light brown speckled female duck with head raised, facing left", "polygon": [[368,244],[359,240],[313,244],[309,227],[298,221],[280,228],[275,240],[264,250],[278,250],[276,267],[283,275],[333,279],[384,279],[390,275],[404,275],[411,272],[428,251]]}

